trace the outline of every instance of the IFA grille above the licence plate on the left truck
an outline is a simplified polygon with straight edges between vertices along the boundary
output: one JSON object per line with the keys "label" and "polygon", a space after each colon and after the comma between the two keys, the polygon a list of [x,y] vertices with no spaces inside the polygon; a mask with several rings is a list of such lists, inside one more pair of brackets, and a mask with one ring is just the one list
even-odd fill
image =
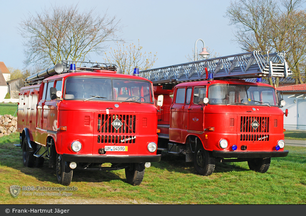
{"label": "IFA grille above the licence plate on the left truck", "polygon": [[[112,125],[114,121],[117,129]],[[136,140],[136,115],[98,114],[97,132],[101,133],[98,135],[98,143],[134,144]]]}

